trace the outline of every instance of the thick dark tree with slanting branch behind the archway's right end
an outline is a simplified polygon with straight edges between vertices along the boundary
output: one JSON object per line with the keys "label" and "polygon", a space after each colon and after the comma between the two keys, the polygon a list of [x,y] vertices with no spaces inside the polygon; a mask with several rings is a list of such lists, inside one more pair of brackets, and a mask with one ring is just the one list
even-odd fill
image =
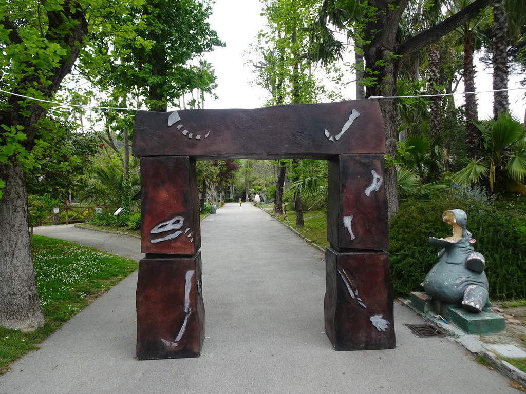
{"label": "thick dark tree with slanting branch behind the archway's right end", "polygon": [[[343,0],[325,0],[323,6],[329,10],[336,10]],[[429,28],[411,26],[417,34],[413,36],[399,35],[398,28],[410,2],[389,4],[383,0],[367,0],[362,2],[363,17],[359,23],[355,18],[346,20],[345,33],[353,30],[359,37],[359,44],[363,46],[365,54],[365,71],[363,81],[366,82],[367,97],[385,97],[379,101],[380,110],[386,131],[387,153],[395,155],[397,150],[397,117],[396,100],[389,99],[397,94],[397,79],[403,61],[418,53],[422,48],[428,47],[439,38],[477,16],[480,9],[487,7],[492,0],[474,0],[466,7],[459,9],[454,15],[442,20]],[[322,18],[320,24],[327,26],[328,18]],[[338,26],[336,26],[336,29]],[[339,29],[341,30],[341,29]],[[332,28],[320,29],[317,32],[315,44],[324,40],[337,42]],[[345,36],[348,36],[346,34]],[[410,38],[408,38],[410,37]],[[338,55],[343,46],[333,46]],[[338,56],[336,56],[337,58]],[[386,169],[386,193],[388,198],[388,211],[392,216],[398,210],[398,193],[396,188],[396,171],[393,167]]]}

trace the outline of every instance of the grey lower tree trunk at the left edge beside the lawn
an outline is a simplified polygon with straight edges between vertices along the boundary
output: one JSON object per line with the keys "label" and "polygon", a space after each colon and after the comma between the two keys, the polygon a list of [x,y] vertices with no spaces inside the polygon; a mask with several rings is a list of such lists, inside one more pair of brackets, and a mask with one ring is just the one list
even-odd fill
{"label": "grey lower tree trunk at the left edge beside the lawn", "polygon": [[18,164],[0,164],[0,326],[34,331],[44,324],[33,271],[25,174]]}

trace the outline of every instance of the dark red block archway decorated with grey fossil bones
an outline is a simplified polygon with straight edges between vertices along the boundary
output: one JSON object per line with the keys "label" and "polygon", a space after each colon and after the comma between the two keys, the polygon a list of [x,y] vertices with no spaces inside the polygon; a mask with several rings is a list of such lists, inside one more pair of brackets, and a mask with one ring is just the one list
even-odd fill
{"label": "dark red block archway decorated with grey fossil bones", "polygon": [[197,357],[205,337],[196,160],[328,159],[325,328],[336,350],[395,347],[376,100],[139,111],[137,358]]}

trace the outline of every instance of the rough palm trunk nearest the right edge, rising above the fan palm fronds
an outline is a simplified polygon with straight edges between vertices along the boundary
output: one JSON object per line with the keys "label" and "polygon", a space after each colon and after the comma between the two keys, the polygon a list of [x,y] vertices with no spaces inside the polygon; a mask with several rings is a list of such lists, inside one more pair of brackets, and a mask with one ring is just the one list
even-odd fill
{"label": "rough palm trunk nearest the right edge, rising above the fan palm fronds", "polygon": [[[508,19],[501,0],[493,3],[493,90],[508,89]],[[508,111],[510,100],[508,91],[493,92],[493,117]]]}

